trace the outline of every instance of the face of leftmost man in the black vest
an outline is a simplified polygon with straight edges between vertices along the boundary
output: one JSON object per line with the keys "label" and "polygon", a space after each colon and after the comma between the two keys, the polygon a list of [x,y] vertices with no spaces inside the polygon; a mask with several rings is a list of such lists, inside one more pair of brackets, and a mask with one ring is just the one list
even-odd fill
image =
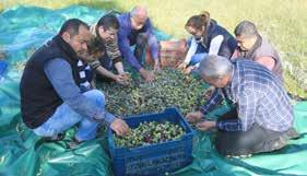
{"label": "face of leftmost man in the black vest", "polygon": [[79,34],[74,36],[64,32],[63,39],[72,47],[79,57],[84,58],[87,56],[87,43],[91,39],[91,33],[87,28],[80,26]]}

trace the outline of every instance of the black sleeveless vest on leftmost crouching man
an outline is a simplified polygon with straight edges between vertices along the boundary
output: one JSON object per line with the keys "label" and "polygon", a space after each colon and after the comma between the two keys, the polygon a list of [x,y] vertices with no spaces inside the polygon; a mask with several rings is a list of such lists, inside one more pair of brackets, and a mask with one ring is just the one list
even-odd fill
{"label": "black sleeveless vest on leftmost crouching man", "polygon": [[63,103],[44,71],[45,64],[55,58],[70,63],[78,85],[84,82],[79,74],[76,54],[60,36],[42,46],[27,61],[20,84],[21,114],[28,128],[43,125]]}

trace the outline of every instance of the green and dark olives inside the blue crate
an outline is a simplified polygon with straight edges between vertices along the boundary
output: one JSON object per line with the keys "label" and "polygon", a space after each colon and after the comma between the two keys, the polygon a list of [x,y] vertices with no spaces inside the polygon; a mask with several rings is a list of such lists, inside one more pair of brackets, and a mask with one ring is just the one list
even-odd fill
{"label": "green and dark olives inside the blue crate", "polygon": [[165,122],[141,122],[139,127],[129,131],[128,136],[118,137],[114,134],[115,144],[118,148],[135,148],[176,140],[185,134],[179,125]]}

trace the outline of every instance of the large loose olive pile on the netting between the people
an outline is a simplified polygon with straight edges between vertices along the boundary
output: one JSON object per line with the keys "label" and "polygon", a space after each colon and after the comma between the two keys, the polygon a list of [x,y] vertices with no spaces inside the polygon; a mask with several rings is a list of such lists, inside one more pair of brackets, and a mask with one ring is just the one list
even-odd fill
{"label": "large loose olive pile on the netting between the people", "polygon": [[155,73],[153,82],[141,78],[132,79],[128,85],[103,83],[106,108],[113,114],[128,116],[158,113],[177,106],[185,115],[204,104],[204,83],[178,70],[165,69]]}

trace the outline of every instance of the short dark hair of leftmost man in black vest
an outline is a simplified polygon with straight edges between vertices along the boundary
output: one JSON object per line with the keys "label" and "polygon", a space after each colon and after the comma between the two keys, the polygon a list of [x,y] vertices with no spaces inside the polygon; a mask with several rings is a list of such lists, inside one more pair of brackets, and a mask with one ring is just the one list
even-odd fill
{"label": "short dark hair of leftmost man in black vest", "polygon": [[59,35],[62,35],[64,32],[68,32],[70,34],[70,36],[74,36],[79,34],[79,28],[80,26],[83,26],[87,30],[90,30],[90,26],[82,22],[79,19],[70,19],[68,21],[64,22],[64,24],[62,25]]}

